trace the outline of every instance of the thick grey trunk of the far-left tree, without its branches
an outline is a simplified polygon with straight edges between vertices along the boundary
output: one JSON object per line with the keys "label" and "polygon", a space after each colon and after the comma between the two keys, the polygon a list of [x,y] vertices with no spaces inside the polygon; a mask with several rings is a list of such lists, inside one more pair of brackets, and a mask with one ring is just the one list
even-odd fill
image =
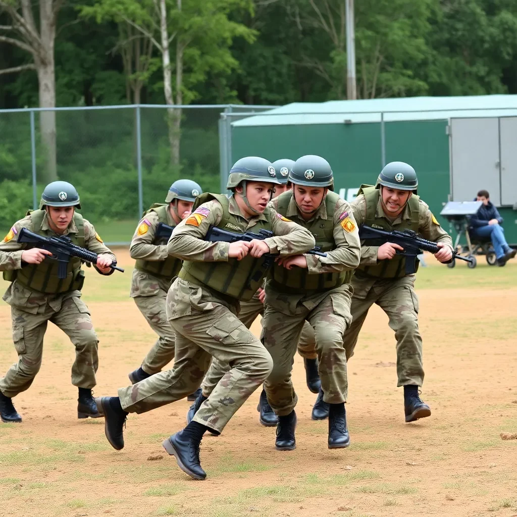
{"label": "thick grey trunk of the far-left tree, without its branches", "polygon": [[[56,17],[52,0],[40,0],[40,38],[41,45],[36,60],[39,81],[40,108],[55,108],[56,84],[54,69],[54,41],[56,36]],[[57,179],[56,163],[56,112],[40,112],[40,131],[43,152],[45,153],[44,179],[49,182]]]}

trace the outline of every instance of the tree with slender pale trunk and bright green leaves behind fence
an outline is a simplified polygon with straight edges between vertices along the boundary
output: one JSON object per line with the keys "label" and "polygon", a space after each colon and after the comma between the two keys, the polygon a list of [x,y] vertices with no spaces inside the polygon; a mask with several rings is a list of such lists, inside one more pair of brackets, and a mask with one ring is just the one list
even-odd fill
{"label": "tree with slender pale trunk and bright green leaves behind fence", "polygon": [[181,127],[181,109],[174,107],[195,98],[192,88],[209,70],[229,73],[236,68],[229,50],[233,38],[251,40],[254,35],[228,18],[232,9],[242,8],[250,9],[250,0],[97,0],[82,8],[85,16],[95,16],[99,22],[113,19],[129,24],[160,53],[163,95],[171,106],[167,121],[174,165],[180,159]]}

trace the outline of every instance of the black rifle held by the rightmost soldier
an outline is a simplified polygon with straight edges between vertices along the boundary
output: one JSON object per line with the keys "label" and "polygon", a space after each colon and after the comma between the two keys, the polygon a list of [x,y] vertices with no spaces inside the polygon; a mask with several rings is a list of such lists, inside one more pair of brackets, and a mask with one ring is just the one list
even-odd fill
{"label": "black rifle held by the rightmost soldier", "polygon": [[[440,248],[436,242],[432,240],[425,240],[418,236],[418,233],[413,230],[393,230],[388,232],[371,226],[362,225],[359,229],[359,238],[374,240],[373,246],[382,246],[385,242],[392,242],[402,246],[403,250],[397,250],[397,255],[404,255],[406,258],[406,275],[411,275],[416,272],[417,255],[424,251],[436,253]],[[412,259],[410,257],[413,257]],[[472,259],[462,257],[456,251],[452,252],[452,258],[461,258],[465,262],[472,263]]]}

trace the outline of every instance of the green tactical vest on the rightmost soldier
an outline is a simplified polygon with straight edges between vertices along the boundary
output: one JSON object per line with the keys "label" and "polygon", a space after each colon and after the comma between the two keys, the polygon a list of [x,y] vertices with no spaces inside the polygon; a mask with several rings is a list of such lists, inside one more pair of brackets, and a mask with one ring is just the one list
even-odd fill
{"label": "green tactical vest on the rightmost soldier", "polygon": [[[364,224],[374,228],[381,228],[391,232],[392,230],[414,230],[418,232],[418,224],[420,220],[419,199],[416,194],[412,194],[407,202],[409,208],[409,219],[402,219],[400,224],[392,225],[384,217],[375,217],[379,195],[381,191],[372,185],[361,185],[357,194],[364,194],[366,200],[366,220]],[[365,246],[381,246],[385,240],[382,239],[361,239]],[[418,270],[418,260],[416,261],[416,270]],[[379,261],[375,266],[359,265],[358,268],[365,275],[375,278],[401,278],[406,276],[406,257],[403,255],[395,255],[390,260]]]}

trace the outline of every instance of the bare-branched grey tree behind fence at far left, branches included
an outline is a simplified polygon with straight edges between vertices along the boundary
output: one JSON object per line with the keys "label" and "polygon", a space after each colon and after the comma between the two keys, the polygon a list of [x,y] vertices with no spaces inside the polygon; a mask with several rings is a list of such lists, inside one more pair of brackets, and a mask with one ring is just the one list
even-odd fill
{"label": "bare-branched grey tree behind fence at far left, branches included", "polygon": [[[54,43],[59,9],[64,0],[39,0],[39,28],[30,0],[0,0],[0,8],[11,24],[0,26],[0,42],[15,45],[32,56],[32,61],[0,70],[0,74],[35,69],[38,74],[40,108],[55,108],[56,86]],[[45,179],[57,179],[55,111],[40,112],[41,140],[46,153]]]}

